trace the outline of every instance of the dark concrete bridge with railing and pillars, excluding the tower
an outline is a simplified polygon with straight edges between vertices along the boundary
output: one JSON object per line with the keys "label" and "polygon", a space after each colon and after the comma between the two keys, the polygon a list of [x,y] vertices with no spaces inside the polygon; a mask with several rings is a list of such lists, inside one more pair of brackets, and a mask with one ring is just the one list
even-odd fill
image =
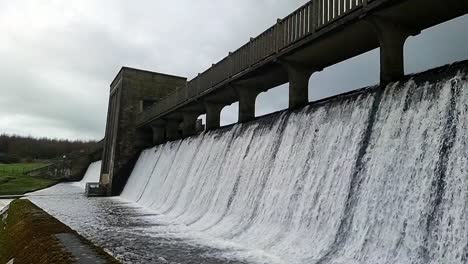
{"label": "dark concrete bridge with railing and pillars, excluding the tower", "polygon": [[207,129],[220,126],[220,112],[239,101],[239,122],[254,118],[256,96],[288,83],[289,108],[308,102],[316,71],[381,48],[381,81],[404,75],[405,40],[468,13],[464,0],[312,0],[213,64],[142,112],[137,126],[151,127],[154,143],[195,133],[199,115]]}

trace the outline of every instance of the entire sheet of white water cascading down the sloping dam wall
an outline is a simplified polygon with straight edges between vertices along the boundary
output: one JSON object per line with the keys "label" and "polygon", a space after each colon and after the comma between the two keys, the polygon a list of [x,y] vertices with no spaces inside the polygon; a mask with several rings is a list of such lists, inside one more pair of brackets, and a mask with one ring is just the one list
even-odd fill
{"label": "entire sheet of white water cascading down the sloping dam wall", "polygon": [[466,263],[467,65],[147,149],[121,197],[268,263]]}

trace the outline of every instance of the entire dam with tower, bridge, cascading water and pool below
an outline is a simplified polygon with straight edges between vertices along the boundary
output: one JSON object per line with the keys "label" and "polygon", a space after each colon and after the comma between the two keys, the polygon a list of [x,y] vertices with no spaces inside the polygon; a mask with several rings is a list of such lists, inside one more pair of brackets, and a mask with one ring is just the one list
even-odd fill
{"label": "entire dam with tower, bridge, cascading water and pool below", "polygon": [[[468,61],[403,67],[408,37],[467,13],[312,0],[192,80],[123,67],[83,179],[28,198],[124,263],[467,263]],[[380,83],[307,101],[375,48]],[[284,83],[288,109],[255,118]]]}

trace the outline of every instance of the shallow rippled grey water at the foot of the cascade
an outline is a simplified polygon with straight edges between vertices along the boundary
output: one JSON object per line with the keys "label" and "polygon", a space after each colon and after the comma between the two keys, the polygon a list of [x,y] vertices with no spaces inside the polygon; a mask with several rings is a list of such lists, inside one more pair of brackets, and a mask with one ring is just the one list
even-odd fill
{"label": "shallow rippled grey water at the foot of the cascade", "polygon": [[123,263],[247,263],[225,257],[239,249],[208,247],[134,203],[87,198],[69,184],[30,194],[28,199]]}

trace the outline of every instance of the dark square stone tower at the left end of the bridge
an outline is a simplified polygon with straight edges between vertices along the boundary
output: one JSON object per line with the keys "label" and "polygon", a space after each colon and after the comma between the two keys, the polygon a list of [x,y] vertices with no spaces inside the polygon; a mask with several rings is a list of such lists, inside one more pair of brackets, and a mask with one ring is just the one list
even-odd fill
{"label": "dark square stone tower at the left end of the bridge", "polygon": [[139,113],[185,85],[186,78],[123,67],[110,85],[101,186],[122,191],[140,152],[152,145],[152,131],[136,128]]}

